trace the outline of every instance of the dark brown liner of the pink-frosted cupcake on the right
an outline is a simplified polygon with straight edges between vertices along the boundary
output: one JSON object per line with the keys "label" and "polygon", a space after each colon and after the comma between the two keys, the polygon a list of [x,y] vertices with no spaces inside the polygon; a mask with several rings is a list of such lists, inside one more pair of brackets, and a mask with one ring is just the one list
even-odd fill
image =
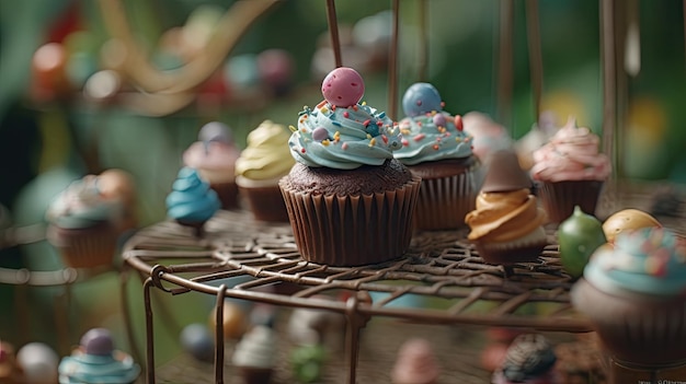
{"label": "dark brown liner of the pink-frosted cupcake on the right", "polygon": [[603,184],[597,181],[544,182],[537,185],[537,195],[549,222],[561,223],[572,216],[574,206],[579,206],[584,213],[595,214]]}

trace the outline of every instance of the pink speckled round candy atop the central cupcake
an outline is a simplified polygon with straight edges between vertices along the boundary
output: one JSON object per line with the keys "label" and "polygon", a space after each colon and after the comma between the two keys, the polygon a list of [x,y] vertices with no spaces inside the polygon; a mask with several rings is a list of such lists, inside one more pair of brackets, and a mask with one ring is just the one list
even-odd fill
{"label": "pink speckled round candy atop the central cupcake", "polygon": [[329,104],[346,108],[362,100],[365,82],[356,70],[340,67],[327,74],[321,83],[321,94]]}

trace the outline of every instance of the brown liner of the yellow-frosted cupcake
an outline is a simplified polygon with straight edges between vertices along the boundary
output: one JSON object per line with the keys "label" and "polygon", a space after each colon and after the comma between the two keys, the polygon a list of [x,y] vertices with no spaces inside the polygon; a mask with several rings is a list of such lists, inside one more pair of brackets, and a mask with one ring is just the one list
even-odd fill
{"label": "brown liner of the yellow-frosted cupcake", "polygon": [[278,185],[270,187],[240,187],[253,217],[261,221],[288,222],[288,210]]}

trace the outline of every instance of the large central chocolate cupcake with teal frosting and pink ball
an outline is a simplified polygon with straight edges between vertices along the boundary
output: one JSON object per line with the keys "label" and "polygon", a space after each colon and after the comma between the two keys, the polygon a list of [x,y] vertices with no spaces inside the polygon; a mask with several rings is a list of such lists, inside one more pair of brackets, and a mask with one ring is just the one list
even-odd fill
{"label": "large central chocolate cupcake with teal frosting and pink ball", "polygon": [[322,93],[291,128],[297,163],[279,182],[296,245],[304,259],[332,266],[398,258],[410,246],[421,184],[393,159],[398,127],[358,104],[364,82],[351,68],[333,70]]}

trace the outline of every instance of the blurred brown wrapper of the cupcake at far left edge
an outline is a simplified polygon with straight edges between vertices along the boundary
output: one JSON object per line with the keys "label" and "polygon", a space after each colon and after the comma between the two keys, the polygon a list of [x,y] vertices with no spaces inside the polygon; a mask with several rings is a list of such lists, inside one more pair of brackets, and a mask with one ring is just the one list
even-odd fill
{"label": "blurred brown wrapper of the cupcake at far left edge", "polygon": [[59,251],[67,267],[96,268],[112,265],[118,233],[107,222],[85,229],[49,225],[47,238]]}

